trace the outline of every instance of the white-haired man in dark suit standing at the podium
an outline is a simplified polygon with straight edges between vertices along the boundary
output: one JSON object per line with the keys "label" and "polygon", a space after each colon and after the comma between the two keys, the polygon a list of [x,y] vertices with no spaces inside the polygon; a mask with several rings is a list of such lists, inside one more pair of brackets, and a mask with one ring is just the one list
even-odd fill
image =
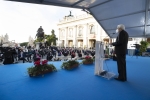
{"label": "white-haired man in dark suit standing at the podium", "polygon": [[115,46],[115,54],[117,56],[117,65],[118,65],[118,78],[115,78],[119,81],[127,81],[126,76],[126,51],[128,44],[128,33],[125,31],[125,26],[120,24],[117,26],[118,37],[116,42],[112,43]]}

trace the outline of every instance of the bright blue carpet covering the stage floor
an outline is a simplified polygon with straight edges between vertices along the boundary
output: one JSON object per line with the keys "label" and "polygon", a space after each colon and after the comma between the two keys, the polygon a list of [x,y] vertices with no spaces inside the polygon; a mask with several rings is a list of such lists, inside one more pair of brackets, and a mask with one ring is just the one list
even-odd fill
{"label": "bright blue carpet covering the stage floor", "polygon": [[[127,56],[127,82],[95,76],[94,65],[66,71],[49,63],[58,72],[35,78],[27,74],[33,63],[0,66],[0,100],[150,100],[150,57]],[[117,74],[115,61],[104,68]]]}

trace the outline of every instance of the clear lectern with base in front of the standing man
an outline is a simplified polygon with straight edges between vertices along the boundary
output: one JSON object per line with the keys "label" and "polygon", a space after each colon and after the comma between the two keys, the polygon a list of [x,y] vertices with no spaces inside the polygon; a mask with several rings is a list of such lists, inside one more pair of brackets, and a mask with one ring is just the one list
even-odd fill
{"label": "clear lectern with base in front of the standing man", "polygon": [[[100,41],[96,41],[95,46],[95,75],[111,79],[115,76],[113,72],[109,72],[103,69],[104,61],[107,60],[104,58],[104,44]],[[106,63],[106,62],[105,62]]]}

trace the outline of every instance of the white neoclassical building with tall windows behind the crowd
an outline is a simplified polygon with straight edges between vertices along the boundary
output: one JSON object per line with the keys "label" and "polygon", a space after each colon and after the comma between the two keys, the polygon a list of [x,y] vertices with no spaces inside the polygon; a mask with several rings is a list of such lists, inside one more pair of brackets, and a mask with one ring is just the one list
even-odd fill
{"label": "white neoclassical building with tall windows behind the crowd", "polygon": [[64,47],[95,47],[96,41],[109,42],[109,37],[90,14],[64,17],[57,24],[58,45]]}

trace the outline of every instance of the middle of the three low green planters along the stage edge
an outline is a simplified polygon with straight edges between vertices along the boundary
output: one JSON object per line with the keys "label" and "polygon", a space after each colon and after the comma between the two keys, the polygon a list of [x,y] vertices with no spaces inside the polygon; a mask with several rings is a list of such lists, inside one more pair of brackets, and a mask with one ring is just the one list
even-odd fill
{"label": "middle of the three low green planters along the stage edge", "polygon": [[76,60],[69,60],[69,61],[66,61],[66,62],[63,62],[61,68],[62,69],[66,69],[66,70],[71,70],[73,68],[76,68],[79,66],[79,62],[76,61]]}

